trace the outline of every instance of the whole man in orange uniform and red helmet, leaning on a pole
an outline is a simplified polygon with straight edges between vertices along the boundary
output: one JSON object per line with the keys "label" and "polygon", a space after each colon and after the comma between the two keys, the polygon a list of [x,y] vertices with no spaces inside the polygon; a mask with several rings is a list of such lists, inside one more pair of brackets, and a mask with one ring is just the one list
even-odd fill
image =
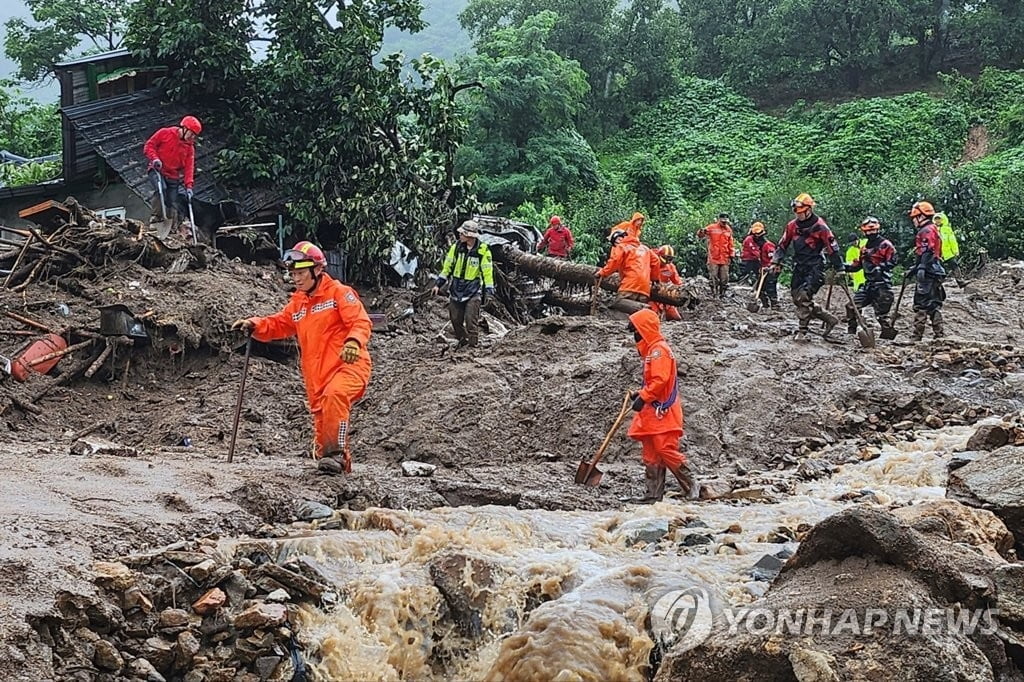
{"label": "whole man in orange uniform and red helmet, leaning on a pole", "polygon": [[349,473],[349,413],[366,392],[372,369],[370,315],[355,290],[324,271],[327,258],[313,244],[299,242],[284,261],[295,284],[288,304],[266,317],[239,319],[231,329],[251,332],[257,341],[298,337],[317,468]]}

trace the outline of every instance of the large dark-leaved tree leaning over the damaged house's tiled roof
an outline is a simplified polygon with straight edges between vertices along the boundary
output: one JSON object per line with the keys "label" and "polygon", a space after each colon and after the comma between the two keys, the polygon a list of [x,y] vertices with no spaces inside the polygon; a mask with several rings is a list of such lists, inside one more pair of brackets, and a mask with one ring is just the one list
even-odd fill
{"label": "large dark-leaved tree leaning over the damaged house's tiled roof", "polygon": [[[384,29],[421,29],[420,9],[416,0],[255,9],[140,0],[127,44],[170,68],[172,98],[209,106],[210,123],[229,132],[218,166],[227,182],[274,186],[297,223],[325,241],[337,233],[350,273],[372,281],[394,240],[435,254],[437,230],[476,208],[454,166],[466,128],[456,96],[474,84],[429,55],[413,60],[416,77],[400,54],[374,63]],[[253,41],[267,44],[260,61],[238,47]]]}

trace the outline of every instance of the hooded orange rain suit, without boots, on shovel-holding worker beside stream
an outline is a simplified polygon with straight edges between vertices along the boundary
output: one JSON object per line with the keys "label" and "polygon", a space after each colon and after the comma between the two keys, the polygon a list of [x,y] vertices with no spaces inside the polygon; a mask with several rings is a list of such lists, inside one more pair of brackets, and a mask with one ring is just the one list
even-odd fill
{"label": "hooded orange rain suit, without boots, on shovel-holding worker beside stream", "polygon": [[678,469],[686,464],[686,456],[679,452],[683,406],[677,390],[676,357],[662,336],[662,325],[653,310],[634,312],[630,322],[641,337],[637,350],[643,357],[640,397],[644,406],[633,416],[629,436],[640,441],[646,466]]}

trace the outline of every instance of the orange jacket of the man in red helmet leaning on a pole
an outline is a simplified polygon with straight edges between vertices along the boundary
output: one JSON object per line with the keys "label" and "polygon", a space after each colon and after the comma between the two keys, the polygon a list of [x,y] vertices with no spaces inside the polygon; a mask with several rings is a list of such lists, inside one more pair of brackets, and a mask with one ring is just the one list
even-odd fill
{"label": "orange jacket of the man in red helmet leaning on a pole", "polygon": [[321,275],[311,295],[296,291],[281,312],[254,322],[253,338],[257,341],[299,338],[302,378],[313,412],[319,407],[324,389],[344,364],[341,351],[348,339],[355,339],[362,347],[358,359],[349,367],[354,366],[366,384],[370,383],[370,315],[355,290],[329,274]]}

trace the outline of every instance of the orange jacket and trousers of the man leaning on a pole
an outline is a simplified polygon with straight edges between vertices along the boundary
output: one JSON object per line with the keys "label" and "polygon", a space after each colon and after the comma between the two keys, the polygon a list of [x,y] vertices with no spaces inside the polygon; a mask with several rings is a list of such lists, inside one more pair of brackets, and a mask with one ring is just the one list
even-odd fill
{"label": "orange jacket and trousers of the man leaning on a pole", "polygon": [[[322,273],[311,294],[296,291],[281,312],[253,319],[253,338],[272,341],[297,336],[302,355],[302,378],[313,415],[315,457],[342,453],[351,470],[348,416],[362,397],[373,364],[367,345],[372,324],[358,294]],[[360,346],[354,363],[341,358],[345,341]]]}

